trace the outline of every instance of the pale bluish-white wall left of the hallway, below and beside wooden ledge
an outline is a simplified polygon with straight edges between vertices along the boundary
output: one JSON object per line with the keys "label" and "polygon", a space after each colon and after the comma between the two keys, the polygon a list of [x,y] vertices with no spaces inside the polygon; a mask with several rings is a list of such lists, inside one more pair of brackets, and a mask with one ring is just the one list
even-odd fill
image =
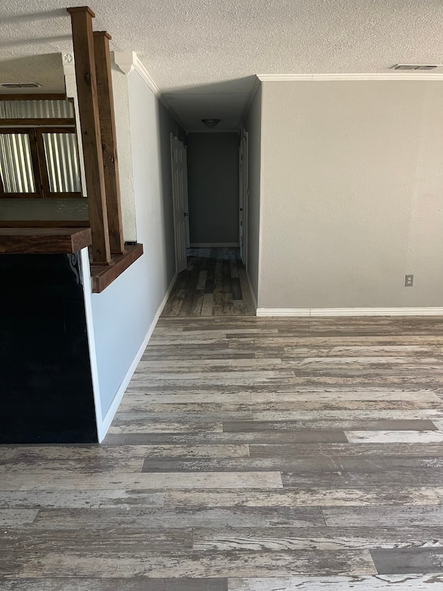
{"label": "pale bluish-white wall left of the hallway, below and beside wooden ledge", "polygon": [[[170,132],[179,129],[136,71],[127,77],[127,99],[137,240],[144,254],[104,292],[91,294],[89,322],[105,423],[123,396],[175,273]],[[120,175],[120,183],[124,179]]]}

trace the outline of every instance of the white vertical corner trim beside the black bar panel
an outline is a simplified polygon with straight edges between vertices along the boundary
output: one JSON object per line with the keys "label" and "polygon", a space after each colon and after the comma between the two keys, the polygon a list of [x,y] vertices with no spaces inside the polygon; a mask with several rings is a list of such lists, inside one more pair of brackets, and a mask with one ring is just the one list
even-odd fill
{"label": "white vertical corner trim beside the black bar panel", "polygon": [[91,269],[89,265],[89,250],[84,248],[80,251],[80,261],[82,261],[82,282],[84,295],[84,312],[86,316],[86,330],[88,335],[89,360],[91,362],[92,391],[94,398],[94,408],[96,412],[97,436],[100,441],[100,421],[102,418],[102,401],[100,400],[100,383],[98,380],[98,367],[96,355],[96,337],[94,335],[94,324],[91,303]]}

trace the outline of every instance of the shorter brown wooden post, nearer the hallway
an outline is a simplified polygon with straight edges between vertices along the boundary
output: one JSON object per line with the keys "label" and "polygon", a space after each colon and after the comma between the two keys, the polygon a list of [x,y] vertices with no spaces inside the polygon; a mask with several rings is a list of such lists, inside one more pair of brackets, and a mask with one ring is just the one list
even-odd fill
{"label": "shorter brown wooden post, nearer the hallway", "polygon": [[114,114],[114,95],[112,93],[111,55],[109,53],[109,39],[111,39],[111,35],[106,31],[94,31],[93,38],[103,168],[105,172],[109,244],[111,245],[112,254],[123,254],[125,251],[125,242],[123,241],[116,119]]}

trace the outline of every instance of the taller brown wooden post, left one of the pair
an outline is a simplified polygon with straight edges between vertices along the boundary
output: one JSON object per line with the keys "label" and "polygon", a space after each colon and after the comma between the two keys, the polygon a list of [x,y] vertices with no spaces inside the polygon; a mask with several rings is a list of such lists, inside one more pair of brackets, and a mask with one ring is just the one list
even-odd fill
{"label": "taller brown wooden post, left one of the pair", "polygon": [[88,6],[68,8],[67,10],[71,15],[72,23],[75,81],[82,130],[89,222],[92,233],[92,258],[93,264],[104,265],[111,260],[111,250],[109,248],[105,175],[103,173],[92,33],[92,19],[95,15]]}

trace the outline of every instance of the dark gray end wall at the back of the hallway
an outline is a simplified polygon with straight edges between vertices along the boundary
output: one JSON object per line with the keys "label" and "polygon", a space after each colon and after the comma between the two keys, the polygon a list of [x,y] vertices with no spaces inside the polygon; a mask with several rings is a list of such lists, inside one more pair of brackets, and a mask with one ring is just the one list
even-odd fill
{"label": "dark gray end wall at the back of the hallway", "polygon": [[238,134],[190,133],[186,143],[191,244],[238,243]]}

